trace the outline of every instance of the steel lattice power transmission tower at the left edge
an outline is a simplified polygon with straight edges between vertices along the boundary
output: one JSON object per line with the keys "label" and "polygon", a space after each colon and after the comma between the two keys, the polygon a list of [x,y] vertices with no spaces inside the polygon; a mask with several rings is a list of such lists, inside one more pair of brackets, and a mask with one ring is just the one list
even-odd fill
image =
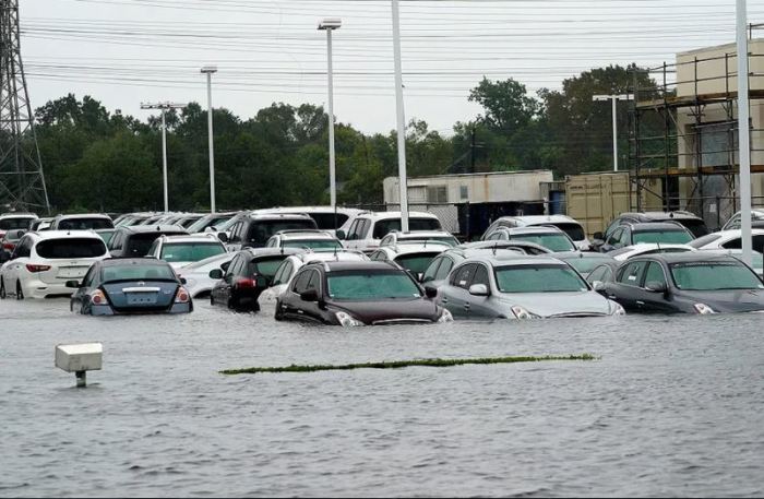
{"label": "steel lattice power transmission tower at the left edge", "polygon": [[21,60],[19,0],[0,0],[0,211],[50,212]]}

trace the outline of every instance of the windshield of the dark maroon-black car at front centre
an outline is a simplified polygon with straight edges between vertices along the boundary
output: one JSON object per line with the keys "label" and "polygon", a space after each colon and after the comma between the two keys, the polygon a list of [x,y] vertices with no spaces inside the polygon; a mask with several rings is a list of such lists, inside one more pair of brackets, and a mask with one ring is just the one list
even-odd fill
{"label": "windshield of the dark maroon-black car at front centre", "polygon": [[403,271],[337,272],[326,278],[329,296],[337,301],[421,298],[419,287]]}

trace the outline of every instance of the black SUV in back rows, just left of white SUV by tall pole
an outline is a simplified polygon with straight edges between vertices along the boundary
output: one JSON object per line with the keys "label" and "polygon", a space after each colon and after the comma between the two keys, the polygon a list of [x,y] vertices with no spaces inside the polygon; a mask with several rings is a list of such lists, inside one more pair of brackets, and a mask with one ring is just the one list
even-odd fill
{"label": "black SUV in back rows, just left of white SUV by tall pole", "polygon": [[315,221],[303,214],[254,214],[241,217],[230,228],[230,236],[219,234],[229,251],[264,248],[271,236],[283,230],[318,230]]}

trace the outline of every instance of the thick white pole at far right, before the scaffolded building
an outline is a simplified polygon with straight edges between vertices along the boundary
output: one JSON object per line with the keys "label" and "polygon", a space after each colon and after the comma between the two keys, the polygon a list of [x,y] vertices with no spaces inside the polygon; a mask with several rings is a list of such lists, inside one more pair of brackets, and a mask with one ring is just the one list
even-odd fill
{"label": "thick white pole at far right, before the scaffolded building", "polygon": [[751,132],[748,86],[748,9],[738,0],[738,135],[740,144],[740,228],[743,261],[753,262],[753,230],[751,228]]}

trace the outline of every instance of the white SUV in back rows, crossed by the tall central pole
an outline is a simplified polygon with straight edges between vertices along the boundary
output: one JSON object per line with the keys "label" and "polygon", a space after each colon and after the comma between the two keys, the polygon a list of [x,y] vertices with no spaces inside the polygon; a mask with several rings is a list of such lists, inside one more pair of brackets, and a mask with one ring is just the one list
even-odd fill
{"label": "white SUV in back rows, crossed by the tall central pole", "polygon": [[[408,229],[443,230],[438,217],[431,213],[409,212]],[[366,212],[356,216],[347,234],[337,230],[345,248],[371,253],[380,247],[380,241],[393,230],[401,230],[401,212]]]}

